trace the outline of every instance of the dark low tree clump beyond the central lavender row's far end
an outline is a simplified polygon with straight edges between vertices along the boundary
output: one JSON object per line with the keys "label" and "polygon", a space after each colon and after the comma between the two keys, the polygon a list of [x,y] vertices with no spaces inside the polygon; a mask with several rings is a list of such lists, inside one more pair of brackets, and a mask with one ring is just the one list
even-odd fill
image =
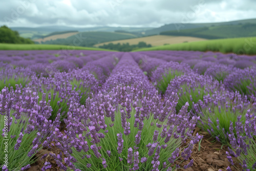
{"label": "dark low tree clump beyond the central lavender row's far end", "polygon": [[104,44],[102,46],[99,46],[99,48],[117,50],[122,52],[130,52],[138,48],[150,48],[150,47],[152,46],[150,44],[147,45],[144,41],[140,41],[138,45],[130,45],[129,43],[122,44],[122,45],[120,43],[118,44],[110,43],[108,45]]}

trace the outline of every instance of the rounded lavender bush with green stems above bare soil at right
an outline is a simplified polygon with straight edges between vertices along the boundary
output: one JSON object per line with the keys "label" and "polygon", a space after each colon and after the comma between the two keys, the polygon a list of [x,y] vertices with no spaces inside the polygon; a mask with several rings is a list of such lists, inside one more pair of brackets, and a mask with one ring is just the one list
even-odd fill
{"label": "rounded lavender bush with green stems above bare soil at right", "polygon": [[229,91],[204,95],[203,100],[199,100],[193,107],[195,114],[200,116],[198,125],[223,144],[229,143],[228,134],[237,137],[236,132],[229,131],[230,122],[235,127],[238,116],[241,116],[239,120],[244,123],[247,110],[255,112],[255,106],[247,96]]}

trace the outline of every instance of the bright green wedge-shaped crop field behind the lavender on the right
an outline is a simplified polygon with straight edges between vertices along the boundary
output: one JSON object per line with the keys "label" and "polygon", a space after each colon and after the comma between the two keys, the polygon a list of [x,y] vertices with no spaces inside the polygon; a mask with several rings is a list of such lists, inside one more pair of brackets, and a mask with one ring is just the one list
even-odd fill
{"label": "bright green wedge-shaped crop field behind the lavender on the right", "polygon": [[182,44],[165,45],[152,48],[143,48],[135,51],[157,51],[157,50],[178,50],[178,51],[214,51],[236,54],[256,54],[256,37],[227,38],[205,40],[197,42],[184,42]]}

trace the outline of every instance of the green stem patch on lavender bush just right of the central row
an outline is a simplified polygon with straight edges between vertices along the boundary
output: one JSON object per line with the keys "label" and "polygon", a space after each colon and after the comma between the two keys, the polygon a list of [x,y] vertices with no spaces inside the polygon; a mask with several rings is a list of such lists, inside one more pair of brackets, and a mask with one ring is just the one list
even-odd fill
{"label": "green stem patch on lavender bush just right of the central row", "polygon": [[[184,73],[177,70],[169,70],[166,73],[162,75],[162,79],[157,81],[157,88],[162,92],[162,94],[165,93],[168,84],[170,83],[170,80],[174,79],[176,76],[183,75]],[[184,103],[185,104],[185,103]]]}

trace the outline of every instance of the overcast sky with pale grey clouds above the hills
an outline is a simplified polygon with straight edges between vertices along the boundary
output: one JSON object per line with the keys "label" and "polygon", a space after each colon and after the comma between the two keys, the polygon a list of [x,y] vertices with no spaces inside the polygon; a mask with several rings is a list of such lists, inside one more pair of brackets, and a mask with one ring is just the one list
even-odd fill
{"label": "overcast sky with pale grey clouds above the hills", "polygon": [[10,0],[0,1],[0,25],[159,27],[256,18],[255,0]]}

